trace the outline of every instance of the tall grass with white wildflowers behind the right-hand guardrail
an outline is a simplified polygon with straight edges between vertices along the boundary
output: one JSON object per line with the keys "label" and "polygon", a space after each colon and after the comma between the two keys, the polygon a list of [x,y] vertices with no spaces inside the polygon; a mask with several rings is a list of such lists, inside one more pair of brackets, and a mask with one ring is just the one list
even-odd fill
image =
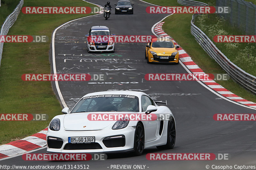
{"label": "tall grass with white wildflowers behind the right-hand guardrail", "polygon": [[[215,35],[244,35],[244,32],[231,26],[217,14],[202,14],[196,17],[195,25],[212,41]],[[255,43],[213,43],[227,58],[243,69],[256,76],[256,44]]]}

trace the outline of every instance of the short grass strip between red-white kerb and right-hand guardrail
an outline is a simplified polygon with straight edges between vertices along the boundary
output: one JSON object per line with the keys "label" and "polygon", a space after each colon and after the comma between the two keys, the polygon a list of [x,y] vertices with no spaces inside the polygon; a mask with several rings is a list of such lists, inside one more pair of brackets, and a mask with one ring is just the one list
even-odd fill
{"label": "short grass strip between red-white kerb and right-hand guardrail", "polygon": [[[181,6],[176,0],[147,0],[152,4],[161,6]],[[202,1],[203,2],[203,1]],[[163,29],[191,56],[196,64],[204,70],[205,73],[225,73],[225,71],[213,60],[203,48],[196,42],[196,39],[190,33],[190,21],[192,14],[174,14],[164,20]],[[245,90],[232,79],[228,81],[216,81],[229,91],[252,102],[256,102],[256,95]]]}

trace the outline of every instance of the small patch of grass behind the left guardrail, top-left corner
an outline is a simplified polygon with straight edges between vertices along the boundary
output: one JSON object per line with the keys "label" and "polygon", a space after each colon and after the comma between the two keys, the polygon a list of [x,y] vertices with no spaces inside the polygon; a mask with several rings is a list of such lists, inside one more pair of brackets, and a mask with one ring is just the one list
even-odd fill
{"label": "small patch of grass behind the left guardrail, top-left corner", "polygon": [[19,4],[20,0],[1,0],[0,6],[0,30],[4,24],[5,19],[12,13],[12,11]]}

